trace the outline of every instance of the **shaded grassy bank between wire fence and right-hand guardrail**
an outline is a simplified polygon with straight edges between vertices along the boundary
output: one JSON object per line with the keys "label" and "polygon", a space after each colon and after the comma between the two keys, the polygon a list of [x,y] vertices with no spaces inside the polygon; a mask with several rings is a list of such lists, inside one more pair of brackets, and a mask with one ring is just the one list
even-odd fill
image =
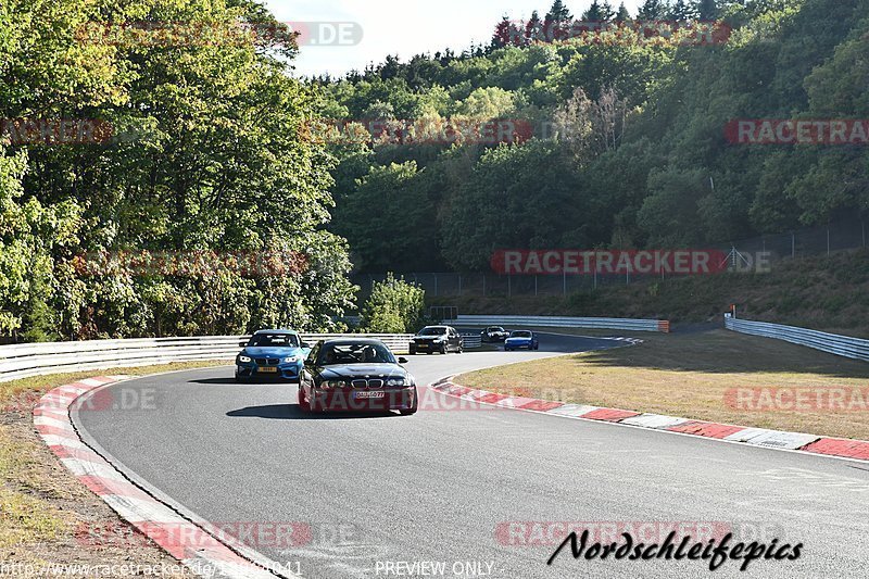
{"label": "shaded grassy bank between wire fence and right-hand guardrail", "polygon": [[[558,278],[561,282],[561,278]],[[638,317],[718,322],[740,317],[869,338],[869,250],[783,260],[769,273],[668,277],[601,286],[568,295],[427,297],[459,314]]]}

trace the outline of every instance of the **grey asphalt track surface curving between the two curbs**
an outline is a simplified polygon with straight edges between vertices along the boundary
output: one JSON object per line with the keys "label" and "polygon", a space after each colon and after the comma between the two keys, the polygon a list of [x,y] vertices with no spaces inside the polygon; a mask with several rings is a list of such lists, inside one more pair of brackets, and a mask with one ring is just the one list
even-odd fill
{"label": "grey asphalt track surface curving between the two curbs", "polygon": [[[430,383],[612,345],[543,335],[540,352],[418,355],[407,367]],[[456,407],[430,389],[415,416],[308,416],[294,386],[231,376],[222,367],[122,382],[111,390],[127,407],[75,419],[118,467],[202,519],[307,529],[303,540],[249,539],[304,577],[869,577],[869,468],[859,463]],[[738,562],[713,572],[704,561],[575,559],[569,549],[547,566],[559,524],[599,529],[591,542],[725,529],[804,547],[797,561],[755,561],[746,572]]]}

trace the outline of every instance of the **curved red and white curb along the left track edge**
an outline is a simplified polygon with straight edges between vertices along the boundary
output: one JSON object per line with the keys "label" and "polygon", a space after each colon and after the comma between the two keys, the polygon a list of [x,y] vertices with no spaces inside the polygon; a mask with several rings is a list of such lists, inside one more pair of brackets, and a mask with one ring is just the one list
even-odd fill
{"label": "curved red and white curb along the left track edge", "polygon": [[[70,418],[71,407],[84,394],[126,379],[129,377],[99,376],[51,390],[34,408],[37,432],[83,484],[196,575],[219,579],[275,579],[274,574],[237,553],[245,552],[244,545],[232,544],[231,538],[226,536],[217,540],[214,530],[210,532],[154,499],[83,442]],[[179,541],[179,537],[194,539]]]}

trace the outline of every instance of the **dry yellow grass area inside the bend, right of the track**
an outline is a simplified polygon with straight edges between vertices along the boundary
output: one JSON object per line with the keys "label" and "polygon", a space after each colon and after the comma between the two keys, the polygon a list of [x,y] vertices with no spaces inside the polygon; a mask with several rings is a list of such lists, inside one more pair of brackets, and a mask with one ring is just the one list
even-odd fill
{"label": "dry yellow grass area inside the bend, right of the track", "polygon": [[[869,439],[869,412],[740,405],[735,388],[869,386],[869,365],[727,330],[640,336],[645,343],[490,368],[456,378],[493,392],[821,436]],[[866,401],[869,403],[869,401]]]}

